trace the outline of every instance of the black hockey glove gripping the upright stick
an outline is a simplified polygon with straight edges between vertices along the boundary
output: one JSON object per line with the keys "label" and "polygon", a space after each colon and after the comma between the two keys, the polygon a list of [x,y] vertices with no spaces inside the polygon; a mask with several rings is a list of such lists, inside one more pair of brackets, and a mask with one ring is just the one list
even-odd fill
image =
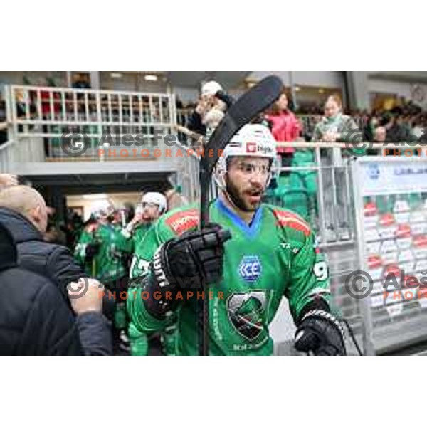
{"label": "black hockey glove gripping the upright stick", "polygon": [[160,246],[150,266],[151,275],[143,280],[149,295],[144,300],[148,312],[162,318],[173,310],[179,291],[189,297],[191,292],[218,281],[223,273],[224,243],[229,238],[228,230],[209,224]]}

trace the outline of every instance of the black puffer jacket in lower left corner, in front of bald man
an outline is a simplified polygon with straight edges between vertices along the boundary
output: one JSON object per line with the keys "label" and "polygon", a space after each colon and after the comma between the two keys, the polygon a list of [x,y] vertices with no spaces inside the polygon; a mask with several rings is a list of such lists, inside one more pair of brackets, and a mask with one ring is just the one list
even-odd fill
{"label": "black puffer jacket in lower left corner, in front of bald man", "polygon": [[13,240],[0,224],[0,354],[82,354],[77,324],[58,289],[16,265]]}

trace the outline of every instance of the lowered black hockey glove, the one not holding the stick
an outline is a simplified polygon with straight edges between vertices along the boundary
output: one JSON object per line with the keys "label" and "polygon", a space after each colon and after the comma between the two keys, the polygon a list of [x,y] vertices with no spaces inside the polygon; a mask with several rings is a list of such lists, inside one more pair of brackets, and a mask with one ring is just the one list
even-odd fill
{"label": "lowered black hockey glove, the one not holding the stick", "polygon": [[307,312],[295,333],[295,349],[315,356],[345,356],[344,330],[336,317],[324,310]]}

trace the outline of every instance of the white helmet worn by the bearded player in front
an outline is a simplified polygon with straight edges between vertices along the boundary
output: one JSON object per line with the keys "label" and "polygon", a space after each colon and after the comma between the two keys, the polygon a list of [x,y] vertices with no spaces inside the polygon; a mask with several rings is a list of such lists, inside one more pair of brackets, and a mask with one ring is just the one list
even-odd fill
{"label": "white helmet worn by the bearded player in front", "polygon": [[226,173],[229,157],[264,157],[271,159],[272,171],[266,186],[270,184],[271,176],[277,167],[277,154],[275,139],[265,125],[248,124],[244,125],[224,149],[218,159],[215,168],[215,181],[221,189],[226,188]]}

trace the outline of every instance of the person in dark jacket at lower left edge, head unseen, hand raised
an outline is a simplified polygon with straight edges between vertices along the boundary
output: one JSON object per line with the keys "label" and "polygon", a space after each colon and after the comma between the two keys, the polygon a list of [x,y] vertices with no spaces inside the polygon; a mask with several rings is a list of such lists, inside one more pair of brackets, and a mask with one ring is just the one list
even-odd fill
{"label": "person in dark jacket at lower left edge, head unseen, hand raised", "polygon": [[1,355],[111,354],[101,306],[91,305],[87,293],[73,305],[73,315],[56,285],[18,268],[14,240],[0,224]]}

